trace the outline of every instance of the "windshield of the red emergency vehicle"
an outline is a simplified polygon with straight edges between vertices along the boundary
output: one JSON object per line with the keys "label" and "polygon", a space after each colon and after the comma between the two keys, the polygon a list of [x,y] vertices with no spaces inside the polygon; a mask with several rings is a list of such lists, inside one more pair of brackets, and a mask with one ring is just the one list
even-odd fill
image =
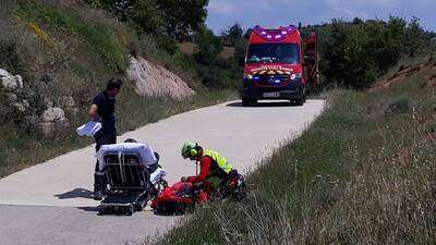
{"label": "windshield of the red emergency vehicle", "polygon": [[300,63],[300,47],[296,44],[250,45],[246,63]]}

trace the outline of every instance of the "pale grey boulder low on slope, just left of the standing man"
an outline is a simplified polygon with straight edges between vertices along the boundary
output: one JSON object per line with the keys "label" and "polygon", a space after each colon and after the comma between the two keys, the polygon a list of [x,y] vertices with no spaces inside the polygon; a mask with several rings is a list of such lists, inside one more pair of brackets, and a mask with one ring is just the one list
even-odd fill
{"label": "pale grey boulder low on slope, just left of the standing man", "polygon": [[65,112],[61,108],[48,108],[43,113],[43,122],[38,123],[45,137],[51,137],[70,126]]}

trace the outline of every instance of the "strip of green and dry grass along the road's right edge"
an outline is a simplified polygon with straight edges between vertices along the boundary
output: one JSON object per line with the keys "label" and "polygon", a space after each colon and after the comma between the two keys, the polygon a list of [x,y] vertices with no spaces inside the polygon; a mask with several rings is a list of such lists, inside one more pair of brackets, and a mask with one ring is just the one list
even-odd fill
{"label": "strip of green and dry grass along the road's right edge", "polygon": [[249,175],[245,201],[199,207],[157,244],[435,244],[428,75],[329,94],[325,113]]}

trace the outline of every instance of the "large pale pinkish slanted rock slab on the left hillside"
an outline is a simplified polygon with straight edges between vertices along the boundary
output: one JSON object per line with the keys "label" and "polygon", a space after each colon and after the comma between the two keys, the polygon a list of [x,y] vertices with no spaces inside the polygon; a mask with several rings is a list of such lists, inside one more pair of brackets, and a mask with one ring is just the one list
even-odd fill
{"label": "large pale pinkish slanted rock slab on the left hillside", "polygon": [[130,57],[129,78],[136,83],[136,93],[148,97],[169,97],[181,100],[195,95],[178,75],[143,58]]}

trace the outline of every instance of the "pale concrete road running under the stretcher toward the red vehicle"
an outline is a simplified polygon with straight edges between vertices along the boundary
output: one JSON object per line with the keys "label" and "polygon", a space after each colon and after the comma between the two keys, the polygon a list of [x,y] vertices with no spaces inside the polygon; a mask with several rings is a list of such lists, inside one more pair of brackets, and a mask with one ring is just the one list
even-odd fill
{"label": "pale concrete road running under the stretcher toward the red vehicle", "polygon": [[[133,137],[150,144],[173,183],[195,173],[194,164],[180,156],[184,140],[214,148],[246,171],[294,137],[323,108],[323,100],[308,100],[304,107],[267,102],[256,108],[233,101],[148,124],[119,140]],[[0,244],[141,243],[178,222],[179,218],[146,211],[133,217],[96,216],[98,203],[90,198],[94,161],[89,146],[0,180]]]}

